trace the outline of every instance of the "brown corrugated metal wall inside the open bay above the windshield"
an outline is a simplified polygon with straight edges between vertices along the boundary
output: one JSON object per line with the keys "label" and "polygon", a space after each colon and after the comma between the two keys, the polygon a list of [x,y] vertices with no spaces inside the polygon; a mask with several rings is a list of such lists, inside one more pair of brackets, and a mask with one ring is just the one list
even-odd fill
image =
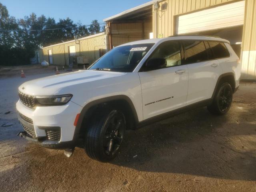
{"label": "brown corrugated metal wall inside the open bay above the windshield", "polygon": [[152,22],[113,23],[111,24],[112,45],[148,39],[152,32]]}

